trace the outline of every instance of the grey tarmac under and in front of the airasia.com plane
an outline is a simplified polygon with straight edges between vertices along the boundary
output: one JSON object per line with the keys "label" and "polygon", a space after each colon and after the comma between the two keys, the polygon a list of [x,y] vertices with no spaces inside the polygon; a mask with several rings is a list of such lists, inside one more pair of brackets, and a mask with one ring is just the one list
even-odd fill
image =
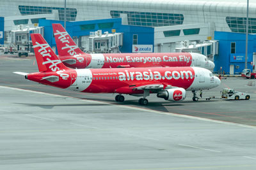
{"label": "grey tarmac under and in front of the airasia.com plane", "polygon": [[69,92],[25,80],[35,58],[0,56],[0,169],[256,169],[256,89],[229,77],[249,101],[200,99],[148,106],[125,96]]}

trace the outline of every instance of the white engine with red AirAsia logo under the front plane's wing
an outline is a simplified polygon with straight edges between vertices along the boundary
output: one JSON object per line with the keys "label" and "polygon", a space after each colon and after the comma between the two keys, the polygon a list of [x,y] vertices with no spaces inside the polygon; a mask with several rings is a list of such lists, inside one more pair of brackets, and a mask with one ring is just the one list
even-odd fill
{"label": "white engine with red AirAsia logo under the front plane's wing", "polygon": [[186,98],[186,90],[183,88],[166,89],[157,93],[157,97],[166,101],[183,101]]}

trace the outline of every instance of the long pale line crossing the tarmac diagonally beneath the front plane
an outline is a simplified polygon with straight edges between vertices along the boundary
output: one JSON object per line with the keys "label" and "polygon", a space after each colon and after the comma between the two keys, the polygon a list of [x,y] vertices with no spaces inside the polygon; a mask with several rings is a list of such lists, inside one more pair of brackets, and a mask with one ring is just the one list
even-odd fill
{"label": "long pale line crossing the tarmac diagonally beneath the front plane", "polygon": [[174,117],[190,118],[190,119],[195,119],[195,120],[202,120],[202,121],[205,121],[205,122],[214,122],[214,123],[226,124],[226,125],[236,125],[236,126],[240,126],[240,127],[256,129],[256,126],[253,126],[253,125],[244,125],[244,124],[237,124],[237,123],[234,123],[234,122],[225,122],[225,121],[221,121],[221,120],[213,120],[213,119],[209,119],[209,118],[193,117],[193,116],[190,116],[190,115],[181,115],[179,113],[170,113],[170,112],[167,113],[167,112],[164,112],[164,111],[150,110],[150,109],[147,109],[147,108],[138,108],[136,106],[126,106],[126,105],[120,105],[120,104],[112,104],[112,103],[103,102],[103,101],[93,101],[93,100],[90,100],[90,99],[78,99],[77,97],[64,96],[64,95],[60,95],[60,94],[49,94],[49,93],[46,93],[46,92],[25,90],[25,89],[19,89],[19,88],[15,88],[15,87],[6,87],[6,86],[0,86],[0,87],[3,88],[3,89],[13,89],[13,90],[19,90],[19,91],[23,91],[23,92],[32,92],[32,93],[36,93],[36,94],[46,94],[46,95],[55,96],[55,97],[70,97],[70,98],[74,98],[74,99],[81,100],[81,101],[88,101],[88,102],[91,102],[91,103],[99,103],[99,104],[109,104],[109,105],[117,106],[117,107],[120,107],[120,108],[130,108],[132,110],[147,111],[147,112],[157,113],[157,114],[162,114],[162,115],[172,115]]}

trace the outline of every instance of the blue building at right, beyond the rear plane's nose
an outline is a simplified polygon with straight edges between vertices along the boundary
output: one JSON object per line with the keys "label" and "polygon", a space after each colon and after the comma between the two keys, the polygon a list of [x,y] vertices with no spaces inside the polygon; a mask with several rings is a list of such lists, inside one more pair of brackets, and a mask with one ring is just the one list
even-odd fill
{"label": "blue building at right, beyond the rear plane's nose", "polygon": [[[214,32],[214,39],[219,41],[219,53],[214,56],[214,71],[220,70],[230,74],[240,74],[245,64],[245,38],[244,33]],[[253,52],[256,52],[256,34],[248,35],[248,69],[253,69],[256,59],[253,60]],[[255,57],[254,57],[255,58]]]}

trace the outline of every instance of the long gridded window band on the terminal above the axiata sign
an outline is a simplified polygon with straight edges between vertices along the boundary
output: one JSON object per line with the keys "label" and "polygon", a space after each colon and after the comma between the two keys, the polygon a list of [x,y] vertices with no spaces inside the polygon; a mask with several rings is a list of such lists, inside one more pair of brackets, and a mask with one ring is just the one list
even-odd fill
{"label": "long gridded window band on the terminal above the axiata sign", "polygon": [[110,11],[112,18],[120,18],[120,14],[127,15],[129,25],[161,27],[168,25],[182,25],[184,16],[176,13],[152,13],[138,11]]}

